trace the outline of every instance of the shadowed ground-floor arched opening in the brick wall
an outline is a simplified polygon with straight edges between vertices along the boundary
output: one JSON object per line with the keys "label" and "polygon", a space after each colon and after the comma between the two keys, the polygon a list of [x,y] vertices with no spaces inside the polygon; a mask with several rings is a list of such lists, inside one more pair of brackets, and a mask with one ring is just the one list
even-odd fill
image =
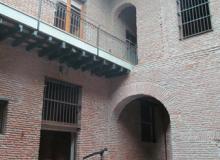
{"label": "shadowed ground-floor arched opening in the brick wall", "polygon": [[170,116],[156,98],[138,96],[117,116],[119,159],[170,159]]}

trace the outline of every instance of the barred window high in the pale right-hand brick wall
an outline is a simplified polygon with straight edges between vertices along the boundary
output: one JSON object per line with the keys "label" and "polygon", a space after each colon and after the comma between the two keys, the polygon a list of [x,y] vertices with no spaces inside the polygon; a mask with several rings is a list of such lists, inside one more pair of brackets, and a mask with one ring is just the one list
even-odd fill
{"label": "barred window high in the pale right-hand brick wall", "polygon": [[177,0],[181,39],[212,30],[209,0]]}

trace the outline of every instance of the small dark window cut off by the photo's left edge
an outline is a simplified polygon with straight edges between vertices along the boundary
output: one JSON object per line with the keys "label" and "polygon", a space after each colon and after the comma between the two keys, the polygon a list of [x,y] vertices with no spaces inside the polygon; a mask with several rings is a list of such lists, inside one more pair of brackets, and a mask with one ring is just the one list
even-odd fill
{"label": "small dark window cut off by the photo's left edge", "polygon": [[0,134],[4,132],[8,101],[0,100]]}

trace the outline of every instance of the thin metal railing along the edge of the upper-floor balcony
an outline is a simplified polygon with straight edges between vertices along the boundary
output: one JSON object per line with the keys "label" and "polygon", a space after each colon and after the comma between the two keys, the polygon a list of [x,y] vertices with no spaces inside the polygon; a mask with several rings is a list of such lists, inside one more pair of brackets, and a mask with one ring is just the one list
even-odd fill
{"label": "thin metal railing along the edge of the upper-floor balcony", "polygon": [[73,6],[66,7],[58,0],[0,0],[0,2],[128,63],[137,64],[136,45],[108,33]]}

